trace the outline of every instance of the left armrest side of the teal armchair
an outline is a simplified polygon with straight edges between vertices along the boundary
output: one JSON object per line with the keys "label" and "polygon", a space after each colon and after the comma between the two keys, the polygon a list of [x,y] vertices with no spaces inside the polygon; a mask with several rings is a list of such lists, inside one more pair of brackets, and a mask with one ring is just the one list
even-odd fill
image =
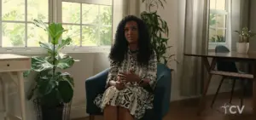
{"label": "left armrest side of the teal armchair", "polygon": [[104,92],[108,71],[109,68],[85,80],[86,112],[88,114],[99,114],[101,111],[93,101],[97,94]]}

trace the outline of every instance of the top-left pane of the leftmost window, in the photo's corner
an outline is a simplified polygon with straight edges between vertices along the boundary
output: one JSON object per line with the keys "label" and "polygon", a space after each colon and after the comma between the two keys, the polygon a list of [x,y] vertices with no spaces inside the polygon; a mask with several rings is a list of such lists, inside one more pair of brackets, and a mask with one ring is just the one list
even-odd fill
{"label": "top-left pane of the leftmost window, in the photo's corner", "polygon": [[2,0],[2,20],[25,20],[25,0]]}

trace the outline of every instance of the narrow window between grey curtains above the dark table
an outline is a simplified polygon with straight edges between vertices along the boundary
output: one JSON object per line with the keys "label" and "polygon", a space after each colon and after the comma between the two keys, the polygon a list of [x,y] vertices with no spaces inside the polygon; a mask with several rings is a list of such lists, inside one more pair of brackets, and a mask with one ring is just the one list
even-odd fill
{"label": "narrow window between grey curtains above the dark table", "polygon": [[210,0],[209,49],[217,44],[229,46],[230,0]]}

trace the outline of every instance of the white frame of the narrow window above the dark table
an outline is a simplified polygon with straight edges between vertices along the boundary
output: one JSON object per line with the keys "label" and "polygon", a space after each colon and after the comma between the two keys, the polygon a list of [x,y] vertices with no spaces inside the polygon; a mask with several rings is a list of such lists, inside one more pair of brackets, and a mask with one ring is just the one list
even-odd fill
{"label": "white frame of the narrow window above the dark table", "polygon": [[[208,49],[209,50],[212,50],[212,49],[215,49],[217,45],[224,45],[226,46],[227,48],[230,49],[231,47],[231,29],[230,29],[230,26],[231,26],[231,2],[230,0],[225,0],[225,3],[226,3],[226,9],[225,10],[217,10],[217,9],[209,9],[209,14],[212,14],[212,13],[216,13],[216,14],[225,14],[226,15],[226,27],[225,27],[225,43],[211,43],[209,41],[210,37],[209,37],[209,33],[208,33]],[[209,3],[210,5],[210,3]],[[210,8],[210,6],[209,6]],[[210,26],[208,25],[208,29],[210,29]],[[209,32],[209,30],[208,30]]]}

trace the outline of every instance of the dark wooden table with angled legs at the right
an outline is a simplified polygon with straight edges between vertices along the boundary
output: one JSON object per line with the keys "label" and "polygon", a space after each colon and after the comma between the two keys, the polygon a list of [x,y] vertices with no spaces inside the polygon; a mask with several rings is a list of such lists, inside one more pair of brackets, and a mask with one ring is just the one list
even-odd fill
{"label": "dark wooden table with angled legs at the right", "polygon": [[[201,102],[199,106],[198,113],[201,114],[205,106],[205,96],[207,94],[207,90],[209,88],[209,84],[211,83],[212,75],[224,75],[228,77],[243,77],[249,78],[253,80],[253,112],[256,114],[256,53],[248,53],[248,54],[241,54],[236,52],[229,52],[229,53],[215,53],[215,52],[208,52],[207,54],[198,54],[198,53],[186,53],[184,55],[187,56],[195,56],[201,57],[204,66],[207,68],[208,77],[204,84],[204,91],[201,96]],[[212,63],[210,64],[207,58],[212,58]],[[216,60],[231,60],[231,61],[243,61],[247,63],[251,63],[253,65],[252,73],[237,73],[237,72],[227,72],[227,71],[217,71],[214,70],[216,66]]]}

